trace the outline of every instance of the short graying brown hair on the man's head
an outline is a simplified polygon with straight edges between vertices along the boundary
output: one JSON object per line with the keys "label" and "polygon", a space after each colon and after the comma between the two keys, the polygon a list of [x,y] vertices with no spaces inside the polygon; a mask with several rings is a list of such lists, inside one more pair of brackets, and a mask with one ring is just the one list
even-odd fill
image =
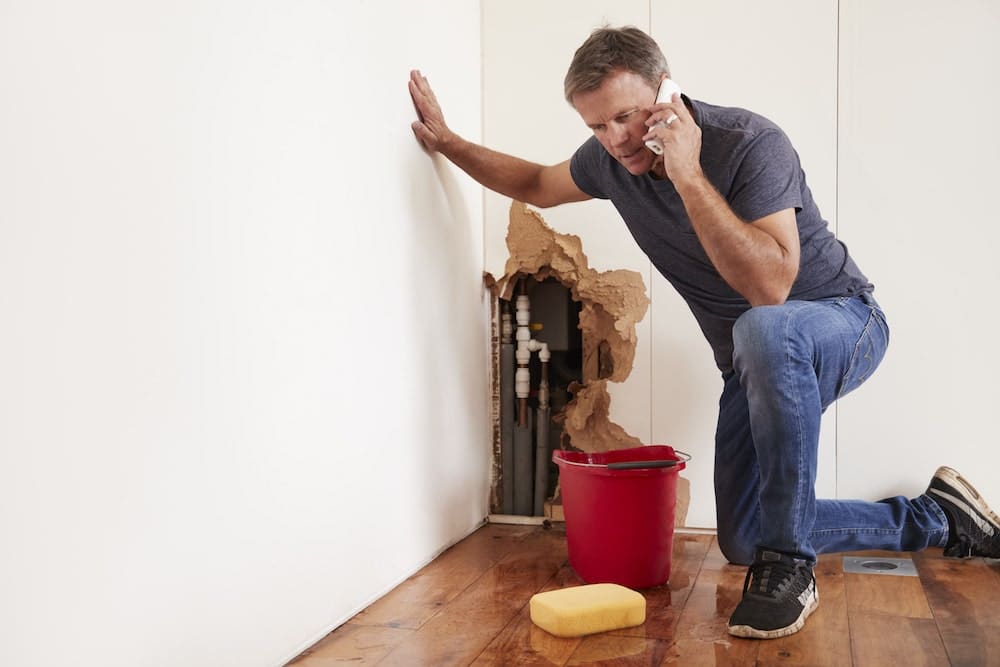
{"label": "short graying brown hair on the man's head", "polygon": [[670,76],[667,59],[653,38],[633,26],[597,28],[573,54],[563,81],[566,101],[573,96],[597,90],[611,72],[628,70],[642,77],[656,90],[660,79]]}

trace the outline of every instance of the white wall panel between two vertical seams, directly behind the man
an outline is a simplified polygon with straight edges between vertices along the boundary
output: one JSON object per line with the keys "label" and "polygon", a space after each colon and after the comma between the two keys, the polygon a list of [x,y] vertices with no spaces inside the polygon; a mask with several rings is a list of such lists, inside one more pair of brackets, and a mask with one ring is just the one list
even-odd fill
{"label": "white wall panel between two vertical seams, directly behind the man", "polygon": [[[751,109],[778,123],[836,230],[837,3],[652,0],[652,34],[671,74],[695,99]],[[653,281],[653,438],[691,451],[689,523],[714,526],[715,420],[722,384],[687,306]],[[835,428],[823,422],[817,493],[833,496]]]}

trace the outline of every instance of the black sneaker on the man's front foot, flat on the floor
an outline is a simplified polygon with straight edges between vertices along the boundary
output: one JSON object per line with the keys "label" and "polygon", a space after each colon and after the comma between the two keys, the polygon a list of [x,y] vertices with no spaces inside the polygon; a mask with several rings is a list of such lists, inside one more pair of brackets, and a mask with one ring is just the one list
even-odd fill
{"label": "black sneaker on the man's front foot, flat on the floor", "polygon": [[729,634],[784,637],[801,630],[817,605],[810,566],[774,551],[758,551],[743,582],[743,600],[729,619]]}

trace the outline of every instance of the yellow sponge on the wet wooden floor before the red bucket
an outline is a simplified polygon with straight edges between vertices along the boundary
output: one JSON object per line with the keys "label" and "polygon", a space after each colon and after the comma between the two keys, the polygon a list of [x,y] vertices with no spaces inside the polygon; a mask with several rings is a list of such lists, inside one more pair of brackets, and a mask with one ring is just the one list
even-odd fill
{"label": "yellow sponge on the wet wooden floor before the red bucket", "polygon": [[538,593],[531,622],[557,637],[631,628],[646,622],[646,598],[618,584],[589,584]]}

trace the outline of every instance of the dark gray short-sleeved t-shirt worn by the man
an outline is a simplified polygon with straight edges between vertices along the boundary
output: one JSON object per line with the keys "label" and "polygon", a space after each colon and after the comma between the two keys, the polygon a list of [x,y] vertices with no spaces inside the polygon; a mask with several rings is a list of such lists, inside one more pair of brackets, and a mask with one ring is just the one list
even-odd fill
{"label": "dark gray short-sleeved t-shirt worn by the man", "polygon": [[[799,156],[781,129],[745,109],[685,97],[702,131],[701,166],[742,220],[794,208],[801,259],[789,300],[812,301],[874,288],[820,215]],[[723,373],[733,367],[733,323],[750,304],[719,275],[669,180],[633,176],[591,137],[574,153],[577,187],[610,199],[639,247],[694,313]]]}

